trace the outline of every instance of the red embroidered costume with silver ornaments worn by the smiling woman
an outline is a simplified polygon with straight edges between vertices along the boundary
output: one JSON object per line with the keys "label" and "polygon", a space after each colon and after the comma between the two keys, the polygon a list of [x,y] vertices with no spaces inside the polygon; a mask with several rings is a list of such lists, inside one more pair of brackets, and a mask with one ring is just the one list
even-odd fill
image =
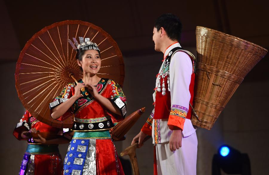
{"label": "red embroidered costume with silver ornaments worn by the smiling woman", "polygon": [[[83,81],[79,80],[78,83]],[[50,108],[53,109],[71,98],[75,92],[74,87],[73,83],[65,86],[61,94],[50,104]],[[77,99],[60,117],[63,120],[70,115],[75,115],[71,129],[75,133],[64,161],[65,175],[124,174],[109,130],[114,127],[114,121],[120,121],[126,115],[126,98],[121,87],[113,80],[101,78],[96,87],[100,95],[110,99],[111,103],[120,109],[121,115],[106,109],[91,96],[88,89],[81,93],[83,97]]]}

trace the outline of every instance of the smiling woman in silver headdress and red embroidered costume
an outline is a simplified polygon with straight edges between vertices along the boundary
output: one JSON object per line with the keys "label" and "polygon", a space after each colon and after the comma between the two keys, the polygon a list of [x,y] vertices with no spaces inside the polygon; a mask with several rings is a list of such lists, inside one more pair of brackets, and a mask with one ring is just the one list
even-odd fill
{"label": "smiling woman in silver headdress and red embroidered costume", "polygon": [[[113,122],[126,115],[126,98],[119,84],[97,76],[101,66],[100,50],[89,38],[80,37],[77,47],[77,64],[83,78],[69,83],[50,104],[54,119],[74,115],[74,136],[64,161],[64,174],[70,175],[123,175],[109,130]],[[113,120],[112,120],[113,119]]]}

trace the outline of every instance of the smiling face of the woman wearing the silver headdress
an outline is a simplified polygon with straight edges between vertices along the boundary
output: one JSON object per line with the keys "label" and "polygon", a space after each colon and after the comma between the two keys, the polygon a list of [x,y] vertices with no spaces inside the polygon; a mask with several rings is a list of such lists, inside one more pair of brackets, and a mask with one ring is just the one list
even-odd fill
{"label": "smiling face of the woman wearing the silver headdress", "polygon": [[97,50],[86,50],[82,56],[82,61],[78,60],[83,72],[97,74],[101,67],[101,58]]}

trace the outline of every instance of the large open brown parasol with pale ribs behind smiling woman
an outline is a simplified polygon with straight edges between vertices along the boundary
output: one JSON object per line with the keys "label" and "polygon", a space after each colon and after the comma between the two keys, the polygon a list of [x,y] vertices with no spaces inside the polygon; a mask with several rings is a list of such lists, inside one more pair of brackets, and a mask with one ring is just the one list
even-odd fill
{"label": "large open brown parasol with pale ribs behind smiling woman", "polygon": [[43,28],[26,43],[16,64],[15,85],[23,106],[39,121],[54,127],[72,127],[72,117],[54,120],[49,103],[60,94],[69,77],[78,80],[82,72],[76,51],[68,39],[90,38],[97,43],[102,65],[98,76],[111,78],[123,85],[124,63],[117,43],[102,28],[89,22],[67,20]]}

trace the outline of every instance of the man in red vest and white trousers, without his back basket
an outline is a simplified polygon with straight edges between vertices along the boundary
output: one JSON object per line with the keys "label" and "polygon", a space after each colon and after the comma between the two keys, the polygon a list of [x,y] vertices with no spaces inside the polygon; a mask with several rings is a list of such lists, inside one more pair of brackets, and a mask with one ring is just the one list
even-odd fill
{"label": "man in red vest and white trousers, without his back basket", "polygon": [[163,52],[163,63],[153,94],[155,108],[132,144],[142,146],[152,136],[154,174],[195,175],[197,136],[190,117],[193,101],[195,57],[179,44],[181,22],[173,14],[163,14],[155,22],[155,51]]}

